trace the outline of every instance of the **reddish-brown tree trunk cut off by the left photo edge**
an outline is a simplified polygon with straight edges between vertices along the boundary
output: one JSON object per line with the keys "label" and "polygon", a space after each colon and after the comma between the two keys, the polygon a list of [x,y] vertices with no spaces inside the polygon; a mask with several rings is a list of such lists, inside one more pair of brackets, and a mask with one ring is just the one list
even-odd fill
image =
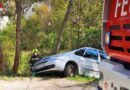
{"label": "reddish-brown tree trunk cut off by the left photo edge", "polygon": [[2,50],[1,40],[0,40],[0,70],[2,71],[2,73],[5,72],[4,57],[3,57],[3,50]]}

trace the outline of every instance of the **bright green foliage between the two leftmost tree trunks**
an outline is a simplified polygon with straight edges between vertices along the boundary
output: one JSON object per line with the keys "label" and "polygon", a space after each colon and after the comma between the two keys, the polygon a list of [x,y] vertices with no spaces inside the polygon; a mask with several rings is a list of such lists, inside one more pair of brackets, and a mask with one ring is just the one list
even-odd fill
{"label": "bright green foliage between the two leftmost tree trunks", "polygon": [[15,44],[16,44],[15,28],[16,28],[15,25],[8,25],[7,28],[5,28],[2,32],[0,32],[6,70],[12,69],[14,63],[13,60],[15,56]]}

